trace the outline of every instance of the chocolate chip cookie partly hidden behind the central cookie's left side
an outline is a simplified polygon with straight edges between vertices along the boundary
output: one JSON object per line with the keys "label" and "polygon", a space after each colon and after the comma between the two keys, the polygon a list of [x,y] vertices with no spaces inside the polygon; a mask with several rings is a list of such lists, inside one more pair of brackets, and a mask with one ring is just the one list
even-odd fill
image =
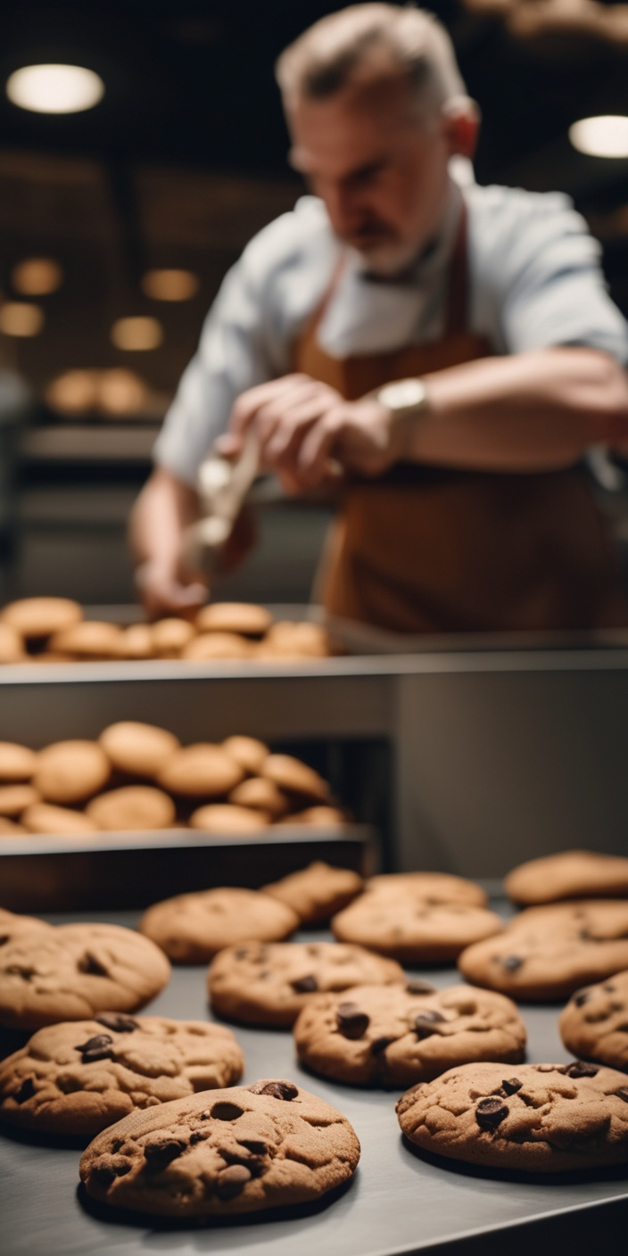
{"label": "chocolate chip cookie partly hidden behind the central cookie's left side", "polygon": [[317,991],[403,982],[403,970],[358,946],[249,942],[226,947],[207,973],[211,1005],[242,1025],[289,1029]]}

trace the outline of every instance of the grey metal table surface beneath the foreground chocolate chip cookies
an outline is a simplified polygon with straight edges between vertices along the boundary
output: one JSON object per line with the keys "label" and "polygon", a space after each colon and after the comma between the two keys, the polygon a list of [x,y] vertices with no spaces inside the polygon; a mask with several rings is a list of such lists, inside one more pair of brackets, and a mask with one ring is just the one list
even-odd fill
{"label": "grey metal table surface beneath the foreground chocolate chip cookies", "polygon": [[[63,917],[67,919],[68,917]],[[131,913],[83,918],[133,924]],[[62,917],[50,917],[60,921]],[[315,937],[319,934],[308,934]],[[455,970],[440,970],[435,985],[452,985]],[[173,970],[151,1012],[203,1020],[205,967]],[[566,1061],[556,1007],[528,1006],[530,1061]],[[602,1241],[628,1217],[628,1167],[563,1176],[559,1181],[428,1161],[399,1134],[397,1091],[334,1085],[295,1063],[290,1034],[236,1027],[246,1058],[244,1081],[291,1078],[339,1108],[355,1128],[362,1159],[353,1182],[337,1198],[296,1216],[245,1218],[203,1227],[116,1218],[114,1210],[85,1206],[78,1191],[78,1148],[41,1145],[16,1135],[0,1138],[3,1256],[393,1256],[393,1253],[482,1251],[507,1243],[514,1252],[584,1250],[584,1235]],[[570,1238],[566,1240],[569,1230]],[[479,1245],[479,1246],[476,1246]],[[496,1245],[496,1246],[494,1246]]]}

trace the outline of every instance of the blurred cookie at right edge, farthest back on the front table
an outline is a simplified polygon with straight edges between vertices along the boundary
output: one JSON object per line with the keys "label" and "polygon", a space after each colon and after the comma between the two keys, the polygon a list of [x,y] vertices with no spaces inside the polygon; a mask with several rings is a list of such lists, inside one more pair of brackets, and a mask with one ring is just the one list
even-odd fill
{"label": "blurred cookie at right edge, farthest back on the front table", "polygon": [[563,850],[514,868],[504,879],[504,888],[521,907],[563,898],[624,898],[628,859],[594,850]]}

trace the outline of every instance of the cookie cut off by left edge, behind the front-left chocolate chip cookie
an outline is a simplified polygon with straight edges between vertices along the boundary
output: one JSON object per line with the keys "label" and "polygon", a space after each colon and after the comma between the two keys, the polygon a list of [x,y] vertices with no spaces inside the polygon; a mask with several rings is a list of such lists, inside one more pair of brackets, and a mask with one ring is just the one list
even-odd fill
{"label": "cookie cut off by left edge, behind the front-left chocolate chip cookie", "polygon": [[41,1029],[133,1012],[170,981],[149,938],[121,924],[26,926],[0,947],[0,1025]]}

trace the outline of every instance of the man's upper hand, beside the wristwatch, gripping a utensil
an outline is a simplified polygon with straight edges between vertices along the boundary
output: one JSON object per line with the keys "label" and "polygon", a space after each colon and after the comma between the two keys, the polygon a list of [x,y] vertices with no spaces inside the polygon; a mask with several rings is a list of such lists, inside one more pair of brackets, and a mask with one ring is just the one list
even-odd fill
{"label": "man's upper hand, beside the wristwatch, gripping a utensil", "polygon": [[376,476],[403,456],[402,425],[386,406],[373,397],[348,402],[335,388],[303,374],[241,393],[219,451],[237,455],[251,430],[264,465],[288,492],[333,480],[338,463],[344,471]]}

